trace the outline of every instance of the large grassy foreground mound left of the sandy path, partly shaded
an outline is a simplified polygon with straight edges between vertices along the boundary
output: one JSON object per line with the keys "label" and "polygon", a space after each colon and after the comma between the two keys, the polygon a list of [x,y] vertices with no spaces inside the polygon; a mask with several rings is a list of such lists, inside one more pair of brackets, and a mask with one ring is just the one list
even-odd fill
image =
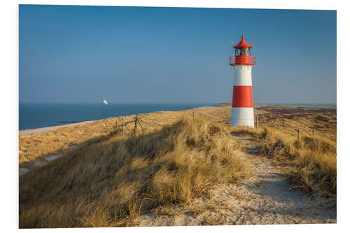
{"label": "large grassy foreground mound left of the sandy path, partly shaded", "polygon": [[126,226],[141,213],[250,176],[227,127],[184,117],[148,130],[69,150],[22,176],[20,228]]}

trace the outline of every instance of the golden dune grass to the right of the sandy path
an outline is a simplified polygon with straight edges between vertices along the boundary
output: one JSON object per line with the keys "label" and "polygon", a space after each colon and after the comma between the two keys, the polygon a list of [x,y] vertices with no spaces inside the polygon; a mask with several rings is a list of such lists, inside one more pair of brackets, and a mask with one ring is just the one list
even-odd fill
{"label": "golden dune grass to the right of the sandy path", "polygon": [[281,172],[288,176],[293,188],[301,188],[309,195],[331,196],[337,193],[337,145],[320,136],[296,136],[276,129],[235,128],[232,134],[255,139],[260,155],[280,162]]}

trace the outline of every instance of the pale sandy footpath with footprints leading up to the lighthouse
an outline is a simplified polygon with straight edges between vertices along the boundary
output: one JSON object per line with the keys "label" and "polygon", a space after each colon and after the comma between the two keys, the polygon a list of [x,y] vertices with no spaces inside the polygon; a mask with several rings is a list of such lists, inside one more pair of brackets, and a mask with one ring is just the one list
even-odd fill
{"label": "pale sandy footpath with footprints leading up to the lighthouse", "polygon": [[258,157],[253,141],[236,137],[246,146],[246,160],[253,177],[242,184],[217,185],[210,198],[196,199],[188,206],[168,206],[140,216],[139,226],[165,225],[251,225],[336,223],[336,199],[310,200],[279,175],[271,161]]}

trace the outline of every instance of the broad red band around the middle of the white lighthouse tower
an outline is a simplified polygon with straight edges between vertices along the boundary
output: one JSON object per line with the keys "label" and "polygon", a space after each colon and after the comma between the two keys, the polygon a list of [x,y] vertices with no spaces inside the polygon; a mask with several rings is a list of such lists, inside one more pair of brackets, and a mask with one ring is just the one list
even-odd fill
{"label": "broad red band around the middle of the white lighthouse tower", "polygon": [[251,86],[233,86],[232,108],[253,108]]}

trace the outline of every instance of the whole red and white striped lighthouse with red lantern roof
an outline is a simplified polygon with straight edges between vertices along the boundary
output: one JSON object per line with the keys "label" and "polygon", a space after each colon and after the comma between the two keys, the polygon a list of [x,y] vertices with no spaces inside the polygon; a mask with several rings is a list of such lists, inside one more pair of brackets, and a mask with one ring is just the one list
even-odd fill
{"label": "whole red and white striped lighthouse with red lantern roof", "polygon": [[256,64],[256,57],[251,56],[251,48],[241,36],[235,48],[235,56],[230,57],[230,66],[235,69],[232,94],[232,126],[254,127],[253,90],[251,88],[251,69]]}

